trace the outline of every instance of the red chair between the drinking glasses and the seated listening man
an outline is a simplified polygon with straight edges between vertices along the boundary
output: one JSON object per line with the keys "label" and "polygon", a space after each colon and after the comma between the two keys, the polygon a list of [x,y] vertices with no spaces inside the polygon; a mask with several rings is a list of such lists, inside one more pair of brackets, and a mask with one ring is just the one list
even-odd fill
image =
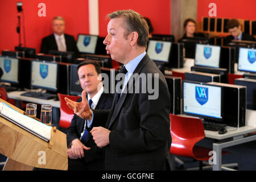
{"label": "red chair between the drinking glasses and the seated listening man", "polygon": [[68,107],[66,101],[64,100],[65,97],[69,98],[72,101],[77,101],[80,97],[79,96],[68,96],[64,94],[57,93],[59,100],[60,100],[60,122],[59,127],[67,129],[71,124],[71,120],[74,115],[74,111]]}

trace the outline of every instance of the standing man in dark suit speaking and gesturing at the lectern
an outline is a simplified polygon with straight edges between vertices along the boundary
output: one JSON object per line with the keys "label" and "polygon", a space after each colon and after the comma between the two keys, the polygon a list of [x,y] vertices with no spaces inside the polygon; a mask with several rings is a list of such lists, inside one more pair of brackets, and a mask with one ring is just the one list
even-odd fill
{"label": "standing man in dark suit speaking and gesturing at the lectern", "polygon": [[106,51],[124,64],[112,108],[89,109],[85,92],[82,102],[66,98],[67,105],[92,121],[90,133],[97,146],[105,149],[106,170],[170,169],[170,94],[163,74],[146,53],[147,24],[133,10],[115,11],[108,17]]}

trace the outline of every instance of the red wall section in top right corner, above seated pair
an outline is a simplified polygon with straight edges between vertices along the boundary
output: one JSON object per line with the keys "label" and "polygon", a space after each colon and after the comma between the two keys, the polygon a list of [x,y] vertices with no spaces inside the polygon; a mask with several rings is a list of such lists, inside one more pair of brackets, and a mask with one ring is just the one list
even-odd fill
{"label": "red wall section in top right corner, above seated pair", "polygon": [[210,3],[216,3],[217,17],[256,19],[255,0],[197,0],[197,20],[201,21],[203,16],[209,16],[208,7]]}

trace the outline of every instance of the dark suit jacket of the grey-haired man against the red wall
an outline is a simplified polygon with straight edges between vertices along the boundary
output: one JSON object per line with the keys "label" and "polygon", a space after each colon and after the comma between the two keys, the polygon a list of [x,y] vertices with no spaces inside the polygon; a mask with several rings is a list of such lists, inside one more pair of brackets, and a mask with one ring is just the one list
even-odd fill
{"label": "dark suit jacket of the grey-haired man against the red wall", "polygon": [[[68,34],[64,34],[64,36],[65,36],[67,51],[78,53],[79,51],[76,47],[75,38],[72,35],[68,35]],[[54,34],[46,36],[45,38],[42,39],[40,52],[48,54],[49,51],[51,50],[54,50],[54,51],[58,50]]]}

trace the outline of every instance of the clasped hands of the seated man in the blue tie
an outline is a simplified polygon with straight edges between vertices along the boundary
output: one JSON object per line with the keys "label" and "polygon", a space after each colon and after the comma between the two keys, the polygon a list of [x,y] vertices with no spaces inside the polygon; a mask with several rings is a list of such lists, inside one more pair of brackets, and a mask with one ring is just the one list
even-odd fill
{"label": "clasped hands of the seated man in the blue tie", "polygon": [[72,141],[71,151],[68,154],[72,158],[81,159],[84,157],[84,150],[90,150],[90,147],[86,147],[79,139]]}

